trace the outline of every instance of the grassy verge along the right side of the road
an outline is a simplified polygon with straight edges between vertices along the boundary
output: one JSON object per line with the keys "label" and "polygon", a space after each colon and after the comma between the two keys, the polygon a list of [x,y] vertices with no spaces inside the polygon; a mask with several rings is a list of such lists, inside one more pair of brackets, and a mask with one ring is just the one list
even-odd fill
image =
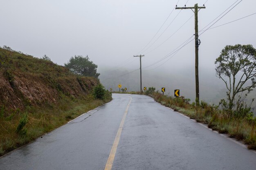
{"label": "grassy verge along the right side of the road", "polygon": [[210,106],[205,102],[195,106],[195,104],[189,104],[184,97],[173,98],[156,92],[149,96],[164,106],[173,108],[198,122],[208,124],[209,128],[219,133],[226,133],[229,137],[243,141],[249,149],[256,150],[256,118],[230,118],[227,113],[218,109],[218,106]]}

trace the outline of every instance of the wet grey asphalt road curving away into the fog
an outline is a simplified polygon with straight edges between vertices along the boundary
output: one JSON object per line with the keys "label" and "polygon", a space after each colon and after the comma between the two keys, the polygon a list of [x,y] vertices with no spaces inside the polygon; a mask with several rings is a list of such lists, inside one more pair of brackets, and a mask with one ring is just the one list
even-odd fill
{"label": "wet grey asphalt road curving away into the fog", "polygon": [[0,170],[256,170],[256,154],[144,95],[113,100],[0,157]]}

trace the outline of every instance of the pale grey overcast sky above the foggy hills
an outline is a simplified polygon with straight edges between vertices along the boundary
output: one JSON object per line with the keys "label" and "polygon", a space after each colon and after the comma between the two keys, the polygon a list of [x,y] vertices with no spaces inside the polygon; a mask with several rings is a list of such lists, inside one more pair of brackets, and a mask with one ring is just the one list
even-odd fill
{"label": "pale grey overcast sky above the foggy hills", "polygon": [[[136,69],[139,68],[139,58],[133,55],[144,54],[142,67],[146,67],[172,52],[194,34],[194,17],[191,17],[193,11],[175,10],[176,3],[178,2],[178,7],[183,7],[184,4],[191,7],[195,3],[202,6],[206,1],[1,0],[0,46],[6,45],[35,57],[47,55],[53,62],[61,65],[71,56],[88,55],[99,69]],[[234,2],[236,0],[208,0],[205,3],[206,9],[199,11],[199,30]],[[240,0],[236,3],[238,2]],[[256,1],[242,0],[213,26],[256,13],[255,7]],[[191,19],[186,22],[189,18]],[[165,20],[166,23],[146,47],[147,50],[142,50]],[[182,24],[184,26],[179,29]],[[256,15],[252,15],[200,35],[200,71],[214,71],[214,61],[225,45],[252,44],[256,47],[255,26]],[[169,38],[171,35],[173,36]],[[167,38],[169,39],[164,42]],[[155,43],[150,46],[153,42]],[[162,45],[159,46],[160,44]],[[155,49],[156,47],[158,48]],[[170,60],[163,60],[144,70],[158,67],[155,71],[174,72],[175,69],[194,66],[194,48],[192,41],[173,57],[166,58]]]}

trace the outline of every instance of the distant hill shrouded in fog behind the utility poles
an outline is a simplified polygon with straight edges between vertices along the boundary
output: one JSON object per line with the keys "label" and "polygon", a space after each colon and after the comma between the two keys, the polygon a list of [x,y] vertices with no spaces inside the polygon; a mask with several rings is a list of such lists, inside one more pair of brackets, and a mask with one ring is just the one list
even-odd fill
{"label": "distant hill shrouded in fog behind the utility poles", "polygon": [[[155,87],[156,90],[161,90],[161,87],[166,88],[168,95],[174,95],[175,89],[180,89],[180,95],[195,100],[195,73],[193,66],[186,68],[175,68],[172,72],[161,71],[144,71],[142,70],[142,88]],[[101,68],[99,79],[103,86],[107,89],[112,88],[113,91],[118,91],[118,84],[126,87],[128,91],[140,90],[140,73],[139,69],[130,73],[132,70],[121,68]],[[128,74],[129,73],[129,74]],[[119,76],[122,75],[122,76]],[[226,98],[225,84],[215,75],[215,70],[205,70],[200,72],[200,100],[209,104],[218,104],[220,99]],[[251,83],[251,82],[248,82]],[[247,104],[250,104],[252,98],[256,96],[254,89],[247,97]],[[256,107],[256,102],[252,104],[252,108]],[[256,110],[254,110],[256,113]]]}

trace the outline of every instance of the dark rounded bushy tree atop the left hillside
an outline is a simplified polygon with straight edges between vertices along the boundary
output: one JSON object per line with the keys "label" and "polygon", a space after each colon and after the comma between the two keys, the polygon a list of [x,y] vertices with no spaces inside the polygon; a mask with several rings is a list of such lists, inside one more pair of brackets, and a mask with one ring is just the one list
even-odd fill
{"label": "dark rounded bushy tree atop the left hillside", "polygon": [[97,73],[97,65],[90,61],[88,55],[83,57],[82,55],[71,57],[70,60],[64,64],[65,67],[69,68],[75,74],[90,76],[90,77],[99,77]]}

